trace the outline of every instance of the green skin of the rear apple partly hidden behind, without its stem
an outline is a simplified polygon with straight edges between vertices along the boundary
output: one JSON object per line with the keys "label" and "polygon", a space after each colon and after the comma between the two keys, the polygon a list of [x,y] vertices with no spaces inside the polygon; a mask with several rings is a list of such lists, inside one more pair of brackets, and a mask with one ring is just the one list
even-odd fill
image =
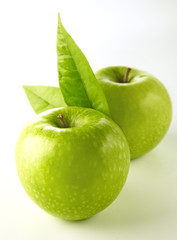
{"label": "green skin of the rear apple partly hidden behind, without its stem", "polygon": [[112,66],[96,72],[112,119],[123,130],[131,159],[152,150],[162,140],[172,119],[172,104],[163,84],[147,72]]}

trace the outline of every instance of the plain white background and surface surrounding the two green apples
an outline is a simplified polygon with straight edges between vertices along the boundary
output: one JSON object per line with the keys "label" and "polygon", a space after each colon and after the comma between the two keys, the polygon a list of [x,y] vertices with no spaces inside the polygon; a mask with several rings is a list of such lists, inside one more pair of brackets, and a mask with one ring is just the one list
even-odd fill
{"label": "plain white background and surface surrounding the two green apples", "polygon": [[[14,149],[35,116],[21,88],[58,86],[57,14],[93,70],[128,65],[149,71],[173,102],[168,134],[131,162],[126,185],[105,211],[79,222],[49,216],[25,194]],[[0,239],[177,239],[177,1],[0,1]]]}

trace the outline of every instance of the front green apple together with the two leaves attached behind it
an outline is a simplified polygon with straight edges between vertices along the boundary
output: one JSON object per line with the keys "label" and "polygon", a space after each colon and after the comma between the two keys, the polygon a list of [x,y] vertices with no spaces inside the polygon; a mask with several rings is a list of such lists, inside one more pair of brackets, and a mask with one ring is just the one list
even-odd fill
{"label": "front green apple together with the two leaves attached behind it", "polygon": [[127,140],[86,57],[58,18],[60,88],[23,86],[34,111],[16,144],[16,166],[29,197],[67,220],[93,216],[125,184]]}

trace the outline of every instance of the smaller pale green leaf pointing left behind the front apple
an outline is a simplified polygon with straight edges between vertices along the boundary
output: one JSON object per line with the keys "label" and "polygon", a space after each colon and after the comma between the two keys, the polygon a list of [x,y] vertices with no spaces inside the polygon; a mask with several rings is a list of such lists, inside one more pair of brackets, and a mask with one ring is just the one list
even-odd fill
{"label": "smaller pale green leaf pointing left behind the front apple", "polygon": [[23,89],[33,110],[37,114],[47,109],[66,106],[60,88],[24,85]]}

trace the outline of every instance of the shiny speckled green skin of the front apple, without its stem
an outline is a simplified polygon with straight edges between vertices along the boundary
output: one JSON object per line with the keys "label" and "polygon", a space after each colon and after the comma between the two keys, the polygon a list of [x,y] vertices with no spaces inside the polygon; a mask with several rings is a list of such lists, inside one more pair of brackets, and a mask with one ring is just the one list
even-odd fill
{"label": "shiny speckled green skin of the front apple, without its stem", "polygon": [[[57,116],[69,125],[63,128]],[[102,211],[120,193],[130,152],[122,130],[104,114],[64,107],[38,115],[16,144],[16,167],[29,197],[46,212],[81,220]]]}

